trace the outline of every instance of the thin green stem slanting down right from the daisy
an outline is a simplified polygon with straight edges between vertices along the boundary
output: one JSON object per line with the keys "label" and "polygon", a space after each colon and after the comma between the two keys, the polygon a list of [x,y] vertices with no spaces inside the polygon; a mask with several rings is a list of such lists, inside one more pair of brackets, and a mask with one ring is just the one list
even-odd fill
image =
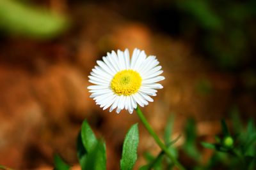
{"label": "thin green stem slanting down right from the daisy", "polygon": [[159,139],[156,132],[152,129],[150,124],[148,124],[146,118],[144,117],[142,111],[140,110],[140,107],[137,106],[136,112],[138,114],[138,117],[140,118],[143,125],[146,127],[149,134],[155,139],[157,145],[163,150],[163,152],[172,160],[173,164],[175,164],[176,167],[178,167],[180,170],[185,170],[185,168],[179,163],[175,157],[168,151],[168,148],[163,144],[163,142]]}

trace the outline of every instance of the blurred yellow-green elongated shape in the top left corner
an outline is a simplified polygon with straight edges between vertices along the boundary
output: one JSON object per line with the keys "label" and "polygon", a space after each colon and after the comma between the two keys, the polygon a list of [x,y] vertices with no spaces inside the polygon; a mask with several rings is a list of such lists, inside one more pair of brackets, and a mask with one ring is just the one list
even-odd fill
{"label": "blurred yellow-green elongated shape in the top left corner", "polygon": [[20,3],[0,1],[0,30],[8,34],[47,39],[57,36],[67,27],[67,18]]}

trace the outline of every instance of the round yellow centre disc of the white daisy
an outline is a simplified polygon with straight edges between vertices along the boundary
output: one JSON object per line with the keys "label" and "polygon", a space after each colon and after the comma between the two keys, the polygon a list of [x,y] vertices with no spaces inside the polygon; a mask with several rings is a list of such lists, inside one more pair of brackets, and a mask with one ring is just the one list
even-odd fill
{"label": "round yellow centre disc of the white daisy", "polygon": [[119,71],[111,81],[111,89],[118,96],[130,96],[138,92],[141,86],[141,76],[131,69]]}

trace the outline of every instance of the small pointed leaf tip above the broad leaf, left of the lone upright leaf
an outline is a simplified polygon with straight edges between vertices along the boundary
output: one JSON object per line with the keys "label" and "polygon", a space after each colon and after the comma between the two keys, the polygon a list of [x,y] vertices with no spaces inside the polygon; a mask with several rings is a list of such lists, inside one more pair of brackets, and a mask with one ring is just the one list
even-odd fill
{"label": "small pointed leaf tip above the broad leaf, left of the lone upright leaf", "polygon": [[97,139],[86,120],[84,120],[81,129],[81,138],[84,148],[87,152],[90,152],[97,144]]}

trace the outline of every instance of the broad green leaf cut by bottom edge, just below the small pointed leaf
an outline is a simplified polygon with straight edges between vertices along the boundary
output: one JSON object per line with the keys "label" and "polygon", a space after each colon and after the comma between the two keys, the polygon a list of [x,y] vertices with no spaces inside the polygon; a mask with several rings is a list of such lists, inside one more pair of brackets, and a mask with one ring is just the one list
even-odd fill
{"label": "broad green leaf cut by bottom edge, just below the small pointed leaf", "polygon": [[98,141],[90,153],[86,156],[82,170],[105,170],[106,169],[106,145]]}

